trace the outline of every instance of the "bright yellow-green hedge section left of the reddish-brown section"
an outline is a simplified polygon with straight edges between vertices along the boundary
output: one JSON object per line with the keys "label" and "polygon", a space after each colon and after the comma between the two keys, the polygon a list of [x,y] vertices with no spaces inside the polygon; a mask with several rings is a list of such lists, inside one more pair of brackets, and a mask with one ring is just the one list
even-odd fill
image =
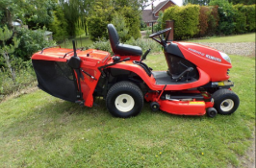
{"label": "bright yellow-green hedge section left of the reddish-brown section", "polygon": [[162,28],[166,20],[174,20],[174,38],[187,39],[199,32],[199,6],[170,7],[164,12]]}

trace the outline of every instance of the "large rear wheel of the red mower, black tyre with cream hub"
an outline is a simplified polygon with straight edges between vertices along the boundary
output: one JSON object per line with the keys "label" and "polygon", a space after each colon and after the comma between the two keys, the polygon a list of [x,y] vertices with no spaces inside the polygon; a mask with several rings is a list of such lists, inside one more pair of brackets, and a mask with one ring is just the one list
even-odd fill
{"label": "large rear wheel of the red mower, black tyre with cream hub", "polygon": [[127,81],[114,84],[106,98],[110,113],[121,118],[138,115],[143,108],[143,101],[141,89]]}

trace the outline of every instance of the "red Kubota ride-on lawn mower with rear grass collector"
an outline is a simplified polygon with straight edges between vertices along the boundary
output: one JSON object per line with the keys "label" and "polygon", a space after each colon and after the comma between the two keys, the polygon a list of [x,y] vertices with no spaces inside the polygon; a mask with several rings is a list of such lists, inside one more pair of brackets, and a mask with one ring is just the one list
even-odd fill
{"label": "red Kubota ride-on lawn mower with rear grass collector", "polygon": [[[215,49],[187,42],[168,42],[171,28],[152,34],[163,46],[168,69],[152,71],[143,60],[141,47],[122,44],[114,25],[108,25],[113,57],[96,49],[83,51],[44,48],[32,57],[38,87],[45,92],[92,107],[95,97],[103,97],[116,117],[136,116],[144,101],[178,115],[214,117],[231,114],[239,107],[239,97],[230,89],[229,57]],[[166,35],[166,38],[163,35]]]}

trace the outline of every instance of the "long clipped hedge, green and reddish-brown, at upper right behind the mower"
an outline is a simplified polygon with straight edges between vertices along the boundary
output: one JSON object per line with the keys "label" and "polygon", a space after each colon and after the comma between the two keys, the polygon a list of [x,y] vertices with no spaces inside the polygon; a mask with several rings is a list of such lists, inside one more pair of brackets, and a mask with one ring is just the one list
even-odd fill
{"label": "long clipped hedge, green and reddish-brown, at upper right behind the mower", "polygon": [[164,12],[162,28],[166,20],[174,20],[174,39],[194,36],[232,35],[255,32],[255,5],[213,0],[212,6],[173,6]]}

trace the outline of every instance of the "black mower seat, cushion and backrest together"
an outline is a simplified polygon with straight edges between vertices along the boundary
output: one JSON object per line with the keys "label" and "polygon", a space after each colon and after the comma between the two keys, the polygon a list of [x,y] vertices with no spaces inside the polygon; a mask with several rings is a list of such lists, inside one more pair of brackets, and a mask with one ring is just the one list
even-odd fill
{"label": "black mower seat, cushion and backrest together", "polygon": [[122,44],[119,42],[119,36],[113,24],[108,24],[108,32],[111,41],[112,51],[115,55],[119,56],[141,56],[141,47]]}

